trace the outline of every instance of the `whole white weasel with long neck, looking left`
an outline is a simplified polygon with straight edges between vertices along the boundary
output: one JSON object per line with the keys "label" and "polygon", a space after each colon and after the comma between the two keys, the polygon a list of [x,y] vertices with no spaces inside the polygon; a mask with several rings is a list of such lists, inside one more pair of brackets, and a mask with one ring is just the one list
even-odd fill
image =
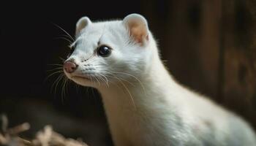
{"label": "whole white weasel with long neck, looking left", "polygon": [[143,16],[80,18],[71,47],[64,72],[99,90],[115,145],[256,145],[244,120],[173,80]]}

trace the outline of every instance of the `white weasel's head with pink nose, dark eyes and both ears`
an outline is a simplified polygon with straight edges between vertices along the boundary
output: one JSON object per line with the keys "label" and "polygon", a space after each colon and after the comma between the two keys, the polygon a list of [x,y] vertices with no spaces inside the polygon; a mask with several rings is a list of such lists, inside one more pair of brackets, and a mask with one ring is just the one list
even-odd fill
{"label": "white weasel's head with pink nose, dark eyes and both ears", "polygon": [[64,73],[80,85],[96,88],[135,80],[151,64],[151,41],[147,21],[138,14],[95,23],[80,18]]}

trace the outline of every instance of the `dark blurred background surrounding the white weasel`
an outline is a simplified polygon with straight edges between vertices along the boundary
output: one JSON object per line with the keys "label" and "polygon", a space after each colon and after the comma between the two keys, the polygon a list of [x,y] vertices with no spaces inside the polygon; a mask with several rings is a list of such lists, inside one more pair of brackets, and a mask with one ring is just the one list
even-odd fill
{"label": "dark blurred background surrounding the white weasel", "polygon": [[[1,2],[3,3],[3,2]],[[144,15],[159,42],[162,60],[181,84],[211,96],[256,127],[255,2],[251,0],[10,1],[1,8],[0,112],[10,126],[31,123],[89,145],[112,145],[101,99],[92,88],[70,83],[61,96],[59,74],[45,80],[68,53],[64,32],[75,23]]]}

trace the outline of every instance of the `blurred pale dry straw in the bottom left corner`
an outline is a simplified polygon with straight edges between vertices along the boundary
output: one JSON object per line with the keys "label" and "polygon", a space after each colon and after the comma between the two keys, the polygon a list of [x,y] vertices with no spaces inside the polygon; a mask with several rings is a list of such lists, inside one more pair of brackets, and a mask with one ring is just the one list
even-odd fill
{"label": "blurred pale dry straw in the bottom left corner", "polygon": [[31,140],[18,136],[23,131],[29,130],[29,123],[23,123],[13,128],[8,128],[8,120],[5,115],[1,116],[0,145],[5,146],[88,146],[81,140],[66,139],[61,134],[53,131],[51,126],[45,126],[38,131],[36,137]]}

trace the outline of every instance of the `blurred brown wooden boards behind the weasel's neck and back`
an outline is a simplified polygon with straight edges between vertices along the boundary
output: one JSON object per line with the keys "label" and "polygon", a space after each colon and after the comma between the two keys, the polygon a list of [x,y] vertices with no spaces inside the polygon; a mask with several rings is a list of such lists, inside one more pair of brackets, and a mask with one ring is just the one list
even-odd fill
{"label": "blurred brown wooden boards behind the weasel's neck and back", "polygon": [[255,4],[145,0],[142,5],[173,76],[256,127]]}

